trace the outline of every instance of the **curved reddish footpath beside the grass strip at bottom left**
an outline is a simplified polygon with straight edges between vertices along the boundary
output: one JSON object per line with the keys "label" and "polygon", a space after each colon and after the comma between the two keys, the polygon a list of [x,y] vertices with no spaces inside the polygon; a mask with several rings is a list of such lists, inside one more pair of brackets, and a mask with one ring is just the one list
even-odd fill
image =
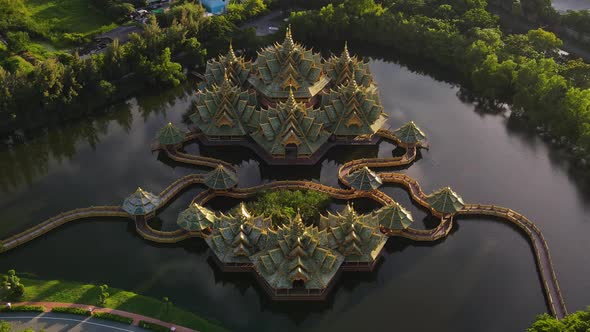
{"label": "curved reddish footpath beside the grass strip at bottom left", "polygon": [[[6,303],[2,303],[2,305],[6,305]],[[84,309],[87,310],[88,308],[92,309],[92,312],[107,312],[107,313],[111,313],[111,314],[115,314],[115,315],[119,315],[119,316],[123,316],[123,317],[127,317],[127,318],[131,318],[133,319],[133,323],[131,323],[131,325],[134,326],[138,326],[139,321],[146,321],[146,322],[150,322],[150,323],[154,323],[154,324],[158,324],[158,325],[162,325],[164,327],[167,328],[171,328],[174,326],[174,328],[176,329],[176,331],[179,332],[192,332],[195,331],[193,329],[189,329],[188,327],[183,327],[183,326],[178,326],[169,322],[164,322],[161,321],[159,319],[155,319],[152,317],[148,317],[148,316],[143,316],[140,314],[136,314],[136,313],[132,313],[132,312],[128,312],[128,311],[122,311],[122,310],[117,310],[117,309],[111,309],[111,308],[103,308],[103,307],[97,307],[97,306],[93,306],[93,305],[88,305],[88,304],[77,304],[77,303],[63,303],[63,302],[17,302],[17,303],[12,303],[13,306],[20,306],[20,305],[32,305],[32,306],[41,306],[45,309],[44,312],[51,312],[51,309],[53,308],[80,308],[80,309]],[[10,314],[12,312],[9,312],[7,314]],[[29,313],[31,314],[31,313]],[[86,316],[81,316],[81,317],[86,317]],[[0,318],[3,318],[2,316],[0,316]],[[42,316],[36,316],[33,318],[42,318]]]}

